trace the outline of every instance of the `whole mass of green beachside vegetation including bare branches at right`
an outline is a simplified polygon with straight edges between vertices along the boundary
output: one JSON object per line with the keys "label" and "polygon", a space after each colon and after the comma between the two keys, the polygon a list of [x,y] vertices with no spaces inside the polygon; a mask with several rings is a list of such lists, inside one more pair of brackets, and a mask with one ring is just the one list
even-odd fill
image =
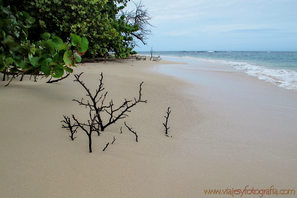
{"label": "whole mass of green beachside vegetation including bare branches at right", "polygon": [[[149,17],[141,1],[122,11],[128,0],[0,0],[0,72],[5,76],[61,78],[88,58],[136,54],[145,44]],[[120,13],[120,14],[119,14]],[[127,18],[125,16],[127,15]],[[22,80],[21,78],[21,80]],[[61,78],[63,79],[63,78]],[[57,81],[57,80],[56,80]],[[49,81],[49,82],[56,82]]]}

